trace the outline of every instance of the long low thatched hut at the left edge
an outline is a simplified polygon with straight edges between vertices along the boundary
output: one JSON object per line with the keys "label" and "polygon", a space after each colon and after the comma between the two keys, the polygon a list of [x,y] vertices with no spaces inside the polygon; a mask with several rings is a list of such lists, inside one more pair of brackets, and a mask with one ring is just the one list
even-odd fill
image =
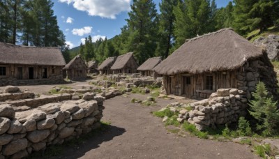
{"label": "long low thatched hut at the left edge", "polygon": [[66,62],[59,47],[0,43],[0,86],[63,82]]}

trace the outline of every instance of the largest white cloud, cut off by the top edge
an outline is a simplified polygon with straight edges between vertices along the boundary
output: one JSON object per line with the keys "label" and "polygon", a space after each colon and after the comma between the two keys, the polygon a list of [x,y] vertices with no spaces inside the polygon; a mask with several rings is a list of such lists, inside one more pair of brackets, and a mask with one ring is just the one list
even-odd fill
{"label": "largest white cloud, cut off by the top edge", "polygon": [[116,15],[130,10],[130,0],[59,0],[73,3],[77,10],[86,11],[88,15],[115,19]]}

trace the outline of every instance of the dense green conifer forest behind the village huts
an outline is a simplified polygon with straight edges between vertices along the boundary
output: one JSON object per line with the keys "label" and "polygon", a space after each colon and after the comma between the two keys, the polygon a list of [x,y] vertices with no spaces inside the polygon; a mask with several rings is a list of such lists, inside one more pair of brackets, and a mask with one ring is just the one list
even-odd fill
{"label": "dense green conifer forest behind the village huts", "polygon": [[247,38],[279,24],[279,0],[233,0],[217,8],[215,0],[162,0],[160,10],[152,0],[133,0],[126,25],[114,38],[84,45],[68,52],[51,0],[0,0],[0,42],[61,47],[66,62],[76,54],[99,63],[110,56],[134,52],[138,63],[153,56],[165,59],[186,39],[232,27]]}

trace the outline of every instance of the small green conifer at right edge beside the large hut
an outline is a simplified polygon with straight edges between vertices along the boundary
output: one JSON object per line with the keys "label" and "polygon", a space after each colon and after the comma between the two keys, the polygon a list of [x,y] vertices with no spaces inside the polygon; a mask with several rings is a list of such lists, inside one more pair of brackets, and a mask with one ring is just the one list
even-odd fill
{"label": "small green conifer at right edge beside the large hut", "polygon": [[256,91],[252,93],[254,100],[250,100],[250,114],[257,119],[257,130],[264,136],[278,134],[279,112],[277,101],[273,102],[273,96],[268,96],[268,91],[263,82],[259,82]]}

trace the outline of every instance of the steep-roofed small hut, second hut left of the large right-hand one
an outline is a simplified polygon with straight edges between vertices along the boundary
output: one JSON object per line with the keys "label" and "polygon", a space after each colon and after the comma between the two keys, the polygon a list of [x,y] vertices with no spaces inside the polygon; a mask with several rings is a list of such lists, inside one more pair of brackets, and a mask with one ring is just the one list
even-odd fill
{"label": "steep-roofed small hut, second hut left of the large right-hand one", "polygon": [[118,73],[137,73],[137,68],[139,65],[133,56],[133,52],[128,52],[127,54],[123,54],[118,56],[112,68],[113,74]]}

